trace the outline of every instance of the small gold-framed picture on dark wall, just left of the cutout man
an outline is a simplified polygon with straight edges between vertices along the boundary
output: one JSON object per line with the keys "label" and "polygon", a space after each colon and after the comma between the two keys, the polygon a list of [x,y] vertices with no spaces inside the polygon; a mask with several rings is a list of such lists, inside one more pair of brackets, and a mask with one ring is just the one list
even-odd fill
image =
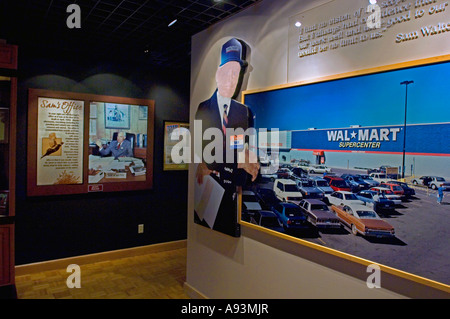
{"label": "small gold-framed picture on dark wall, just left of the cutout man", "polygon": [[164,121],[164,171],[187,170],[189,168],[188,161],[184,161],[183,158],[190,155],[182,154],[182,149],[174,148],[180,142],[183,142],[183,139],[186,139],[185,141],[189,143],[187,134],[189,134],[189,123]]}

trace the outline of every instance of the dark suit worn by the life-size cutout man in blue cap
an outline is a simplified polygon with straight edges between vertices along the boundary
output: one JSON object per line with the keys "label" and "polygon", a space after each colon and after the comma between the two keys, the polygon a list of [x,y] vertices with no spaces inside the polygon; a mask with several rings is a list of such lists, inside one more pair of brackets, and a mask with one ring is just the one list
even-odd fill
{"label": "dark suit worn by the life-size cutout man in blue cap", "polygon": [[[210,99],[200,103],[195,119],[202,121],[202,136],[203,132],[208,128],[218,128],[222,131],[222,120],[217,105],[217,91]],[[249,127],[253,127],[253,116],[250,109],[241,103],[231,100],[227,127],[234,129],[242,128],[244,131]],[[211,141],[203,141],[202,153],[205,146],[209,143]],[[206,163],[208,169],[219,173],[219,176],[215,174],[211,174],[211,176],[225,189],[216,221],[214,225],[205,225],[204,221],[199,220],[197,214],[195,214],[195,217],[196,222],[199,224],[204,224],[231,236],[239,236],[240,229],[237,221],[237,200],[235,195],[236,186],[243,186],[246,183],[248,174],[243,169],[237,168],[236,150],[233,151],[233,163],[226,163],[226,147],[230,147],[230,137],[224,143],[223,163]]]}

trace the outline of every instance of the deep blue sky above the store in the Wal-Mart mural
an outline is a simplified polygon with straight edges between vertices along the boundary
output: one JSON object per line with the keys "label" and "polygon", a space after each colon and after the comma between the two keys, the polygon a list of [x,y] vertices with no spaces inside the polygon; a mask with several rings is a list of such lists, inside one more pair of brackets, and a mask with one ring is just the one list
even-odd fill
{"label": "deep blue sky above the store in the Wal-Mart mural", "polygon": [[450,122],[450,62],[248,94],[257,128],[402,125]]}

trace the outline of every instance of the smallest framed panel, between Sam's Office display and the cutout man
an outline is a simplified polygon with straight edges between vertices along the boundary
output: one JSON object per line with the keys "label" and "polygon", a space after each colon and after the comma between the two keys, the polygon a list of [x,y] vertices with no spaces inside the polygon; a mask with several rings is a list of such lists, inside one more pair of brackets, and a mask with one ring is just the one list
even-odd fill
{"label": "smallest framed panel, between Sam's Office display and the cutout man", "polygon": [[[183,138],[182,134],[189,134],[189,123],[164,121],[164,167],[165,171],[187,170],[189,164],[177,164],[172,158],[173,147]],[[180,154],[178,154],[180,155]]]}

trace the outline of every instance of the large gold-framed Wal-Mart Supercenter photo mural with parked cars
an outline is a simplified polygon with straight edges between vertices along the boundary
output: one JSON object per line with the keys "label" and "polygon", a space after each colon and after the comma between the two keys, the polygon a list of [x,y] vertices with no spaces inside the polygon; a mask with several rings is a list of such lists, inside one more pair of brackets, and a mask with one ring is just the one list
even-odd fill
{"label": "large gold-framed Wal-Mart Supercenter photo mural with parked cars", "polygon": [[[445,94],[430,94],[448,89],[449,61],[445,55],[243,92],[259,137],[261,174],[251,190],[266,213],[246,210],[240,195],[240,224],[450,292],[450,112]],[[386,166],[396,176],[386,176]],[[389,209],[364,199],[377,194],[375,185],[344,179],[368,173],[379,178],[378,187],[391,188],[378,196]],[[422,176],[447,181],[438,179],[442,204],[431,182],[421,185]],[[347,189],[328,191],[333,178]],[[406,182],[414,194],[392,181]],[[284,189],[291,184],[292,192]],[[332,198],[344,191],[352,194],[348,200]]]}

